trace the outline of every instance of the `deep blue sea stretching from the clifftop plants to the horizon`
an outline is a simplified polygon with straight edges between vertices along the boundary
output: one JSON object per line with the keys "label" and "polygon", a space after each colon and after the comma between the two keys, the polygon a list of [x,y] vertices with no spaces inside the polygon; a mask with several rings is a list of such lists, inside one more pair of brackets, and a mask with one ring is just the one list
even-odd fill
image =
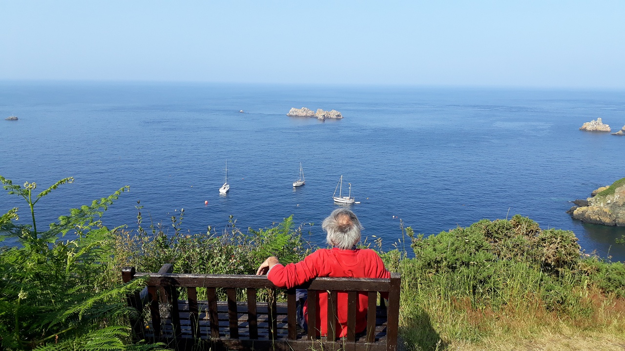
{"label": "deep blue sea stretching from the clifftop plants to the horizon", "polygon": [[[291,107],[344,119],[287,117]],[[130,185],[105,225],[136,228],[138,201],[144,220],[165,224],[184,208],[190,232],[221,232],[229,215],[246,230],[292,214],[322,244],[342,175],[363,235],[385,248],[401,239],[400,219],[429,235],[521,214],[625,260],[614,242],[624,228],[565,213],[625,177],[625,137],[578,129],[597,117],[620,129],[623,92],[5,81],[0,117],[0,175],[37,190],[76,179],[36,204],[40,228]],[[220,196],[226,160],[231,189]],[[294,189],[299,162],[306,185]],[[27,222],[26,202],[0,194],[0,212],[12,207]]]}

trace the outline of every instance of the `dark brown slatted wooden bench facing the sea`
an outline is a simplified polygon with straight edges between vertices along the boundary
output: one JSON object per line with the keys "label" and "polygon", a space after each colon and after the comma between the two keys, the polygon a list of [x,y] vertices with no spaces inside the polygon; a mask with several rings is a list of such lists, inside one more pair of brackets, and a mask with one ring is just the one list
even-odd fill
{"label": "dark brown slatted wooden bench facing the sea", "polygon": [[[371,350],[397,349],[399,323],[399,285],[401,276],[392,273],[390,279],[317,278],[307,283],[308,299],[318,299],[319,291],[327,291],[327,315],[336,315],[336,294],[347,292],[347,337],[336,335],[336,318],[327,321],[327,337],[319,337],[314,328],[308,332],[296,323],[295,289],[286,290],[286,303],[276,302],[276,285],[265,276],[173,274],[170,264],[158,273],[139,273],[134,267],[124,267],[122,277],[129,282],[135,277],[148,276],[148,286],[128,296],[128,305],[139,311],[131,319],[134,340],[164,342],[181,351],[197,350]],[[197,288],[206,288],[206,300],[197,299]],[[217,289],[226,291],[227,299],[217,301]],[[178,295],[186,289],[187,300]],[[247,301],[237,301],[246,290]],[[257,289],[269,289],[271,302],[257,302]],[[356,333],[356,304],[358,292],[369,297],[367,329]],[[378,294],[387,292],[388,306]],[[273,297],[273,299],[271,299]],[[144,321],[144,307],[150,318]],[[316,304],[308,304],[308,325],[315,325]],[[147,310],[145,312],[148,312]]]}

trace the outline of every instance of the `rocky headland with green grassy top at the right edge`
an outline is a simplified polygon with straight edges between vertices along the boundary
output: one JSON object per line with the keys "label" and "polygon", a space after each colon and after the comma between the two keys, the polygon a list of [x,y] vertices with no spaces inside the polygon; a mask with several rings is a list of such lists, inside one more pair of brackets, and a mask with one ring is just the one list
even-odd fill
{"label": "rocky headland with green grassy top at the right edge", "polygon": [[587,206],[571,209],[572,217],[586,223],[625,227],[625,178],[592,193],[596,195],[587,199]]}

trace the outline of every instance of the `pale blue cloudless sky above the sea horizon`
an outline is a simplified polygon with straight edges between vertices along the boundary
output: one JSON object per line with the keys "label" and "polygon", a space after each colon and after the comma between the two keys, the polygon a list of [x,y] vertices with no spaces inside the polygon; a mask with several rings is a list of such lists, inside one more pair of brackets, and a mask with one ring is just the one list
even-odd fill
{"label": "pale blue cloudless sky above the sea horizon", "polygon": [[625,1],[0,0],[0,80],[625,89]]}

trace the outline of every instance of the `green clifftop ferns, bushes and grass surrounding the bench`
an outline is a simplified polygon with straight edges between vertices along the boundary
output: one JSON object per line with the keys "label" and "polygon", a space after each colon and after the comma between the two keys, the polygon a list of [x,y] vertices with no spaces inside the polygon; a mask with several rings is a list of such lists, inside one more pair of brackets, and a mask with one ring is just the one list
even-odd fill
{"label": "green clifftop ferns, bushes and grass surrounding the bench", "polygon": [[[302,239],[312,224],[298,226],[292,217],[245,231],[231,217],[219,233],[209,227],[189,234],[182,229],[184,210],[171,225],[146,226],[138,205],[136,229],[108,229],[99,217],[126,187],[37,232],[34,204],[71,179],[34,201],[36,184],[19,187],[0,179],[9,194],[26,199],[33,218],[32,225],[14,224],[17,209],[0,217],[0,234],[21,244],[0,251],[0,338],[6,350],[152,347],[129,344],[133,310],[123,296],[142,282],[122,285],[124,265],[155,272],[171,263],[174,272],[254,274],[268,255],[296,262],[314,249]],[[397,242],[396,249],[382,250],[379,238],[362,245],[402,274],[401,337],[407,349],[506,350],[526,339],[563,335],[582,335],[599,349],[624,344],[625,266],[583,254],[572,232],[542,230],[521,215],[429,236],[403,225],[397,230],[409,242]],[[61,240],[66,233],[76,239]]]}

